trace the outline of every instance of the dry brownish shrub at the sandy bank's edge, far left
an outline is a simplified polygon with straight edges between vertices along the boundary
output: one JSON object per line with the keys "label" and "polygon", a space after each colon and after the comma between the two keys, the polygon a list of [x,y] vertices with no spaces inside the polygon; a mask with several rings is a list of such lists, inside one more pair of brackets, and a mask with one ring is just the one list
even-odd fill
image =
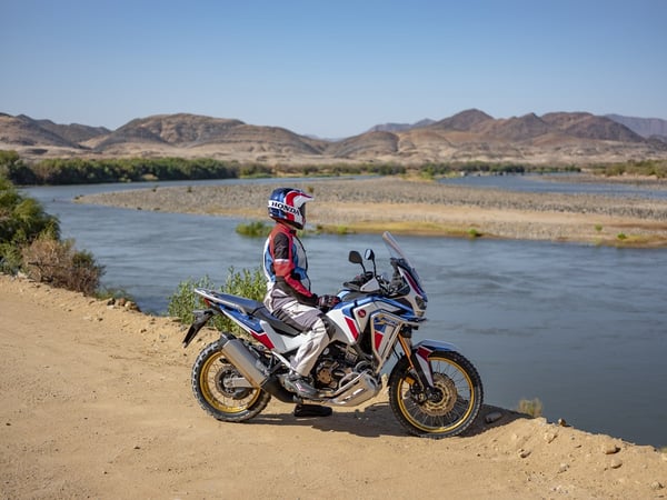
{"label": "dry brownish shrub at the sandy bank's edge, far left", "polygon": [[42,234],[22,250],[23,268],[37,281],[92,296],[104,272],[90,252],[74,249],[73,240]]}

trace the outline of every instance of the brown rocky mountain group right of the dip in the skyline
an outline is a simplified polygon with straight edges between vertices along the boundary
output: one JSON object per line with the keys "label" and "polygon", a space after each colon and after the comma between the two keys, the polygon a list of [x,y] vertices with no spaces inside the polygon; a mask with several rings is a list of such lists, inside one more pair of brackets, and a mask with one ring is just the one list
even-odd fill
{"label": "brown rocky mountain group right of the dip in the skyline", "polygon": [[[385,136],[378,136],[384,133]],[[549,113],[495,119],[470,109],[430,126],[366,132],[327,152],[357,160],[424,163],[487,161],[577,163],[665,158],[667,146],[590,113]]]}

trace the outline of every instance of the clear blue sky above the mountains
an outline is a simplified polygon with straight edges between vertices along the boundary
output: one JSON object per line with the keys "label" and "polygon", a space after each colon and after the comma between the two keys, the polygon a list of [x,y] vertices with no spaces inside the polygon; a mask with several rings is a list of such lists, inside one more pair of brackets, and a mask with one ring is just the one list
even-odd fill
{"label": "clear blue sky above the mountains", "polygon": [[667,119],[667,0],[0,0],[0,112],[57,123]]}

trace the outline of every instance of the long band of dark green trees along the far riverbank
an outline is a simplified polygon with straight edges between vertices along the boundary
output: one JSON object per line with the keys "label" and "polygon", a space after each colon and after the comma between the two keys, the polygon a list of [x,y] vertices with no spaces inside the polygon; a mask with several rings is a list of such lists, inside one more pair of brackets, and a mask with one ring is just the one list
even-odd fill
{"label": "long band of dark green trees along the far riverbank", "polygon": [[[667,160],[638,160],[624,163],[588,166],[601,176],[667,177]],[[427,179],[456,174],[508,174],[579,172],[578,166],[531,166],[511,162],[442,161],[404,166],[395,162],[339,162],[332,164],[241,163],[212,158],[53,158],[33,163],[23,161],[16,151],[0,150],[0,177],[18,186],[88,184],[100,182],[141,182],[156,180],[239,179],[278,176],[405,176]]]}

